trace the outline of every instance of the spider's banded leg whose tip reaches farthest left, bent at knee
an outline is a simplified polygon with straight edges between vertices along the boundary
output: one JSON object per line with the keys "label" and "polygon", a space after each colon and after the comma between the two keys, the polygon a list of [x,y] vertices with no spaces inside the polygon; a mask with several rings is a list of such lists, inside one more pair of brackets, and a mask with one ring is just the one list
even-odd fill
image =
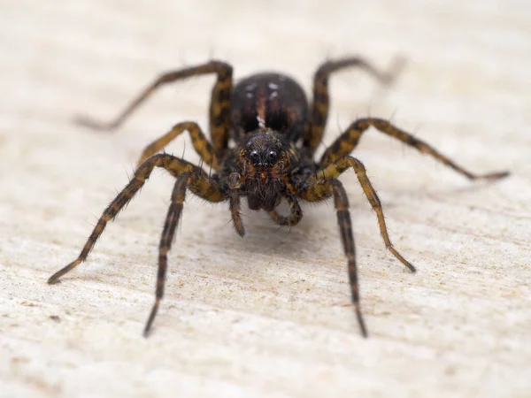
{"label": "spider's banded leg whose tip reaches farthest left, bent at knee", "polygon": [[210,180],[206,173],[196,165],[192,165],[185,160],[167,154],[150,157],[135,171],[133,179],[129,181],[126,188],[123,188],[118,196],[116,196],[104,210],[104,213],[98,219],[94,230],[90,233],[89,239],[83,246],[83,249],[81,249],[80,255],[72,263],[66,265],[65,268],[54,273],[50,279],[48,279],[48,283],[52,284],[58,282],[58,279],[65,275],[66,272],[72,271],[73,268],[87,259],[90,251],[96,245],[96,241],[104,232],[107,223],[116,218],[119,211],[122,210],[131,199],[133,199],[146,180],[150,178],[150,174],[155,167],[164,168],[176,178],[179,178],[183,173],[190,173],[194,176],[189,182],[190,190],[194,194],[199,195],[210,202],[222,202],[227,198],[227,195],[218,187],[217,183]]}

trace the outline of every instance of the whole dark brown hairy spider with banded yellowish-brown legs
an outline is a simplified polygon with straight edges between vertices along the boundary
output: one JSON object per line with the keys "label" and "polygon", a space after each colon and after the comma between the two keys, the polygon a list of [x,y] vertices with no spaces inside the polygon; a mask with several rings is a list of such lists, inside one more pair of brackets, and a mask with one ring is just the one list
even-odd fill
{"label": "whole dark brown hairy spider with banded yellowish-brown legs", "polygon": [[[467,172],[412,134],[404,132],[387,120],[376,118],[355,120],[325,150],[320,159],[315,159],[315,150],[321,142],[328,118],[328,80],[335,72],[352,66],[364,69],[381,83],[389,83],[395,75],[393,71],[381,73],[359,57],[328,61],[320,65],[315,73],[313,99],[309,105],[304,90],[295,80],[284,74],[254,74],[233,86],[232,66],[212,60],[204,65],[162,74],[112,123],[99,124],[89,119],[81,120],[81,123],[92,128],[112,129],[121,125],[146,98],[166,83],[209,73],[214,73],[217,77],[210,103],[211,141],[204,135],[201,127],[195,122],[187,121],[178,123],[168,133],[152,142],[142,152],[134,177],[104,210],[81,254],[73,263],[53,274],[48,282],[57,282],[66,272],[86,260],[97,239],[104,232],[107,222],[115,218],[129,203],[148,180],[153,169],[162,167],[175,177],[175,185],[160,239],[156,299],[145,325],[144,335],[150,332],[164,295],[167,253],[171,248],[175,227],[181,218],[182,206],[189,190],[212,203],[227,201],[235,230],[240,236],[245,233],[240,213],[242,197],[247,199],[250,210],[266,210],[280,226],[296,226],[303,218],[301,202],[321,202],[334,198],[342,246],[347,256],[351,300],[361,333],[367,336],[359,307],[358,269],[349,201],[341,181],[337,180],[342,172],[354,169],[367,200],[376,212],[386,248],[412,272],[415,272],[415,268],[393,247],[380,199],[366,176],[366,168],[356,157],[350,156],[361,135],[370,127],[374,127],[381,133],[435,157],[470,180],[496,180],[505,177],[508,172],[482,175]],[[215,171],[212,175],[180,157],[158,153],[185,131],[190,134],[194,149],[203,162]],[[229,142],[234,144],[229,145]],[[276,210],[282,198],[289,203],[290,211],[287,216]]]}

